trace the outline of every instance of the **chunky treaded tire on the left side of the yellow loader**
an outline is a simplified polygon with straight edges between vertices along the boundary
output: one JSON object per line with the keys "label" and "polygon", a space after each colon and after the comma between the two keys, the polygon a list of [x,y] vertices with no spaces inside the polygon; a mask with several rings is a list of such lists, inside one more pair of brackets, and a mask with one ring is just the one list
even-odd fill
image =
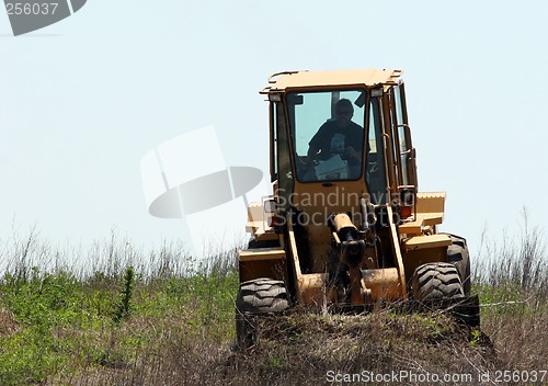
{"label": "chunky treaded tire on the left side of the yellow loader", "polygon": [[236,298],[236,338],[240,349],[255,343],[253,317],[279,314],[289,308],[289,297],[283,281],[255,279],[240,284]]}

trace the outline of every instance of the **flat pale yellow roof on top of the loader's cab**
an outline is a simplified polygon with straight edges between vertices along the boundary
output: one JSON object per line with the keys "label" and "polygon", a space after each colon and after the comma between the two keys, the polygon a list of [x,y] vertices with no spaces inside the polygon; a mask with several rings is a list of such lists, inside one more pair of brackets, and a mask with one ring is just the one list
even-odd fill
{"label": "flat pale yellow roof on top of the loader's cab", "polygon": [[396,84],[401,70],[376,68],[329,71],[284,71],[272,75],[261,93],[283,92],[286,89],[321,89],[335,86]]}

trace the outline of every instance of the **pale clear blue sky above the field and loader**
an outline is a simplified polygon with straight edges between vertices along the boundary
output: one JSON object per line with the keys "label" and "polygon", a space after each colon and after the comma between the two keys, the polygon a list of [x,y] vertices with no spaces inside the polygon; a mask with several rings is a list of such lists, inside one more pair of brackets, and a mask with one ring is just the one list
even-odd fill
{"label": "pale clear blue sky above the field and loader", "polygon": [[[147,151],[214,125],[227,164],[266,171],[267,76],[368,67],[404,71],[420,190],[447,191],[443,230],[473,251],[486,226],[518,231],[523,207],[546,227],[547,20],[540,1],[89,0],[13,37],[0,12],[0,240],[33,225],[54,243],[112,227],[146,248],[184,239],[148,214]],[[241,202],[208,216],[243,229]]]}

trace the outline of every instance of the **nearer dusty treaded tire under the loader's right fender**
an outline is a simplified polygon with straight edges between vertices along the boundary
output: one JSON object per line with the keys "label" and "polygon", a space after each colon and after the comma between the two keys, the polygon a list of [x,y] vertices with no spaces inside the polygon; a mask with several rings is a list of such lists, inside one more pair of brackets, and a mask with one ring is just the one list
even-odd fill
{"label": "nearer dusty treaded tire under the loader's right fender", "polygon": [[413,273],[413,298],[421,303],[455,300],[465,296],[457,268],[452,263],[427,263]]}

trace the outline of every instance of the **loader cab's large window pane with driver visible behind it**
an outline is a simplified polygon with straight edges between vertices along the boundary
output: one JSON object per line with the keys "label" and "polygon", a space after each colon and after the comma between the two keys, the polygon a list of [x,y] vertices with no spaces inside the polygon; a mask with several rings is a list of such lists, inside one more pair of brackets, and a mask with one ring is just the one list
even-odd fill
{"label": "loader cab's large window pane with driver visible behind it", "polygon": [[338,90],[288,94],[300,182],[361,178],[365,93],[365,90]]}

